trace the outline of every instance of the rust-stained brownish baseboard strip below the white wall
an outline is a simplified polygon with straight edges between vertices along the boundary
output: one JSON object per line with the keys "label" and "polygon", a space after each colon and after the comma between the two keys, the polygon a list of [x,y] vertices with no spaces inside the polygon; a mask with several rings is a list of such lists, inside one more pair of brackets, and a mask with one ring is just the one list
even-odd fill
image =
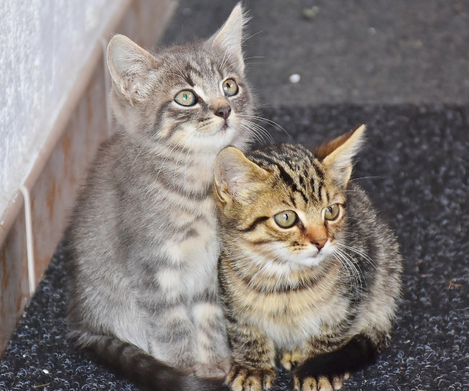
{"label": "rust-stained brownish baseboard strip below the white wall", "polygon": [[[175,6],[177,1],[172,0],[133,0],[108,38],[111,33],[122,33],[151,49]],[[87,167],[99,144],[112,133],[106,107],[109,76],[104,54],[102,59],[91,79],[84,81],[86,90],[30,189],[36,286],[61,240]],[[15,202],[23,205],[22,196]],[[24,207],[0,243],[0,281],[1,355],[29,299]]]}

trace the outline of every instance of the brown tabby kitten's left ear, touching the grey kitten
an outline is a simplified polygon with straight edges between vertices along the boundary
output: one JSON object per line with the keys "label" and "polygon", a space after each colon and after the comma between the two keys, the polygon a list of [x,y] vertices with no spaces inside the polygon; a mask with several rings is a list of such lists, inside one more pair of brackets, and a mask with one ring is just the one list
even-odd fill
{"label": "brown tabby kitten's left ear, touching the grey kitten", "polygon": [[213,183],[216,196],[222,204],[242,200],[249,202],[252,191],[270,175],[238,148],[228,146],[215,159]]}

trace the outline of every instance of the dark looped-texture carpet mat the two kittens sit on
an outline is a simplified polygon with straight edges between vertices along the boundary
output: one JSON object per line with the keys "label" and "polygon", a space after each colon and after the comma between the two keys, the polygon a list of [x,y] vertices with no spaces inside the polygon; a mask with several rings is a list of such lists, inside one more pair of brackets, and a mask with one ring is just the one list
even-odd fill
{"label": "dark looped-texture carpet mat the two kittens sit on", "polygon": [[[263,115],[291,134],[265,124],[276,141],[307,144],[369,125],[354,175],[374,177],[357,183],[396,229],[404,301],[391,347],[343,390],[469,390],[469,107],[280,107]],[[0,390],[136,391],[73,350],[65,261],[59,248],[0,362]]]}

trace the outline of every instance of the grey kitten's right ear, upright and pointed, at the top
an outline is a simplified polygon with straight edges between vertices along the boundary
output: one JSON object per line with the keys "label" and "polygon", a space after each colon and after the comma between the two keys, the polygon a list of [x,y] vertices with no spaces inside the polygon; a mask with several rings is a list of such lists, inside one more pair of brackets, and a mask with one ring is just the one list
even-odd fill
{"label": "grey kitten's right ear, upright and pointed, at the top", "polygon": [[243,14],[241,3],[236,4],[230,16],[223,26],[209,38],[212,46],[218,47],[226,56],[234,61],[239,69],[244,72],[244,59],[242,57],[242,28],[248,21]]}

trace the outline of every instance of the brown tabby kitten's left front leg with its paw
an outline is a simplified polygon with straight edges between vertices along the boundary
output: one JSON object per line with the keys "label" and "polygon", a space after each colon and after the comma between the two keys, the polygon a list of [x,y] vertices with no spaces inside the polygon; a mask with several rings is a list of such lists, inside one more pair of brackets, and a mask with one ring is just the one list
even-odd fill
{"label": "brown tabby kitten's left front leg with its paw", "polygon": [[228,324],[233,363],[227,384],[233,391],[265,391],[275,383],[275,346],[257,327]]}

